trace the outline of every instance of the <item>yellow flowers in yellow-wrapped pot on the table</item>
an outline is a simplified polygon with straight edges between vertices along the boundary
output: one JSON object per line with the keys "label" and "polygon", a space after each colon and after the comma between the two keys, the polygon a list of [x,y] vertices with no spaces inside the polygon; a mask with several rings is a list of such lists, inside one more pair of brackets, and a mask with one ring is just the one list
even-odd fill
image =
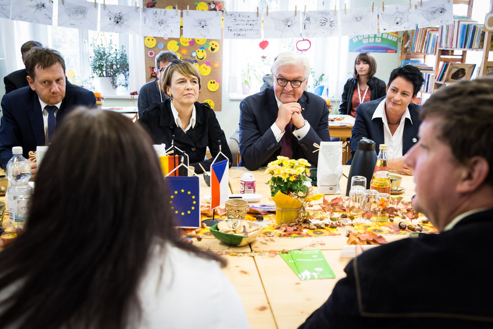
{"label": "yellow flowers in yellow-wrapped pot on the table", "polygon": [[323,196],[313,195],[312,187],[305,183],[310,182],[306,175],[309,165],[305,159],[290,159],[285,156],[278,156],[277,160],[268,163],[265,173],[272,175],[267,184],[271,187],[271,196],[276,202],[278,224],[303,218],[309,201]]}

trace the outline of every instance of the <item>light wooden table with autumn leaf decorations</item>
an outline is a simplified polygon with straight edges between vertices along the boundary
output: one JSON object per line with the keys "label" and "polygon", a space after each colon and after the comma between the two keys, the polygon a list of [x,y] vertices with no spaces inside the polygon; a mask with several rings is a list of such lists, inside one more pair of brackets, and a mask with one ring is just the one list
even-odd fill
{"label": "light wooden table with autumn leaf decorations", "polygon": [[[265,168],[252,172],[256,179],[256,192],[263,195],[259,203],[273,203],[269,187],[265,184],[269,176],[264,171]],[[246,172],[249,171],[243,167],[230,169],[230,184],[234,193],[239,193],[240,178]],[[349,166],[344,166],[343,172],[347,176]],[[347,178],[343,176],[340,180],[343,194],[346,183]],[[406,188],[402,196],[410,199],[414,195],[413,177],[402,176],[402,187]],[[201,178],[201,195],[205,194],[210,194],[210,190]],[[340,195],[326,197],[331,199],[337,196]],[[385,235],[388,241],[404,237],[406,235]],[[327,300],[335,283],[345,276],[343,269],[349,259],[340,258],[340,254],[346,241],[347,238],[342,235],[257,238],[241,248],[228,248],[216,239],[202,239],[194,243],[200,248],[226,255],[228,266],[223,272],[236,287],[252,328],[296,328]],[[320,249],[336,278],[301,281],[281,256],[272,253],[300,248]]]}

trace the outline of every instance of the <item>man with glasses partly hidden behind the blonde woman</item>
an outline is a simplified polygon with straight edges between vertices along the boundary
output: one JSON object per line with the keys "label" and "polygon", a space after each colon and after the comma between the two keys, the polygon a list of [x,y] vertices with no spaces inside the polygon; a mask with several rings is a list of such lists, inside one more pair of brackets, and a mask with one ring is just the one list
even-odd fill
{"label": "man with glasses partly hidden behind the blonde woman", "polygon": [[137,99],[137,108],[139,109],[139,117],[142,116],[145,110],[152,103],[162,103],[166,99],[166,95],[161,90],[159,85],[159,76],[164,69],[169,65],[170,60],[178,59],[178,55],[171,51],[162,51],[156,56],[156,79],[148,82],[141,87],[139,98]]}

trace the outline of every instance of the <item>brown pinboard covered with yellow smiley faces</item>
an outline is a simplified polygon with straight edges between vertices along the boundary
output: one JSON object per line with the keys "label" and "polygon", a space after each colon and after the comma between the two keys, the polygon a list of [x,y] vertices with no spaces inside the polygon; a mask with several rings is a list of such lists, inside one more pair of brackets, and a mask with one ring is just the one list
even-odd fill
{"label": "brown pinboard covered with yellow smiley faces", "polygon": [[[153,0],[146,3],[145,6],[164,9],[176,9],[175,7],[177,6],[178,10],[182,11],[182,17],[184,12],[186,15],[187,6],[189,6],[190,10],[205,10],[207,8],[209,11],[219,11],[220,15],[222,15],[222,8],[224,6],[223,1],[195,2],[175,0],[173,3],[176,5],[170,6],[169,1]],[[180,38],[155,37],[155,45],[154,40],[146,40],[150,35],[144,36],[146,81],[152,81],[156,78],[156,74],[154,73],[156,55],[163,50],[174,51],[182,59],[194,60],[199,67],[202,76],[198,101],[201,103],[207,102],[214,111],[220,111],[222,96],[222,33],[220,39],[184,39],[181,30],[180,36]],[[154,46],[148,47],[148,45]],[[192,57],[201,47],[203,49],[198,53],[203,55],[205,52],[205,58],[202,58],[202,56]],[[202,59],[199,60],[199,58]],[[214,91],[211,91],[208,87]]]}

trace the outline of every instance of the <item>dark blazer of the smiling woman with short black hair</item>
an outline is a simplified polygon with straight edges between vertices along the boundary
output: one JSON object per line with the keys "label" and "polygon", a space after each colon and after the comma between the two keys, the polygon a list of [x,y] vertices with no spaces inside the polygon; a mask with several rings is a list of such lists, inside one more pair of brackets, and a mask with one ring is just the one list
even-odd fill
{"label": "dark blazer of the smiling woman with short black hair", "polygon": [[[378,154],[380,144],[385,143],[383,134],[383,121],[381,118],[372,120],[373,113],[377,109],[378,104],[385,99],[385,96],[374,101],[366,102],[358,105],[356,108],[356,120],[351,131],[351,154],[354,156],[358,147],[358,142],[363,138],[371,139],[375,142],[375,152]],[[406,119],[404,124],[404,132],[402,133],[402,154],[406,154],[409,149],[418,141],[418,130],[421,125],[419,119],[419,105],[410,103],[408,105],[409,114],[413,123]],[[348,163],[349,164],[349,163]]]}

